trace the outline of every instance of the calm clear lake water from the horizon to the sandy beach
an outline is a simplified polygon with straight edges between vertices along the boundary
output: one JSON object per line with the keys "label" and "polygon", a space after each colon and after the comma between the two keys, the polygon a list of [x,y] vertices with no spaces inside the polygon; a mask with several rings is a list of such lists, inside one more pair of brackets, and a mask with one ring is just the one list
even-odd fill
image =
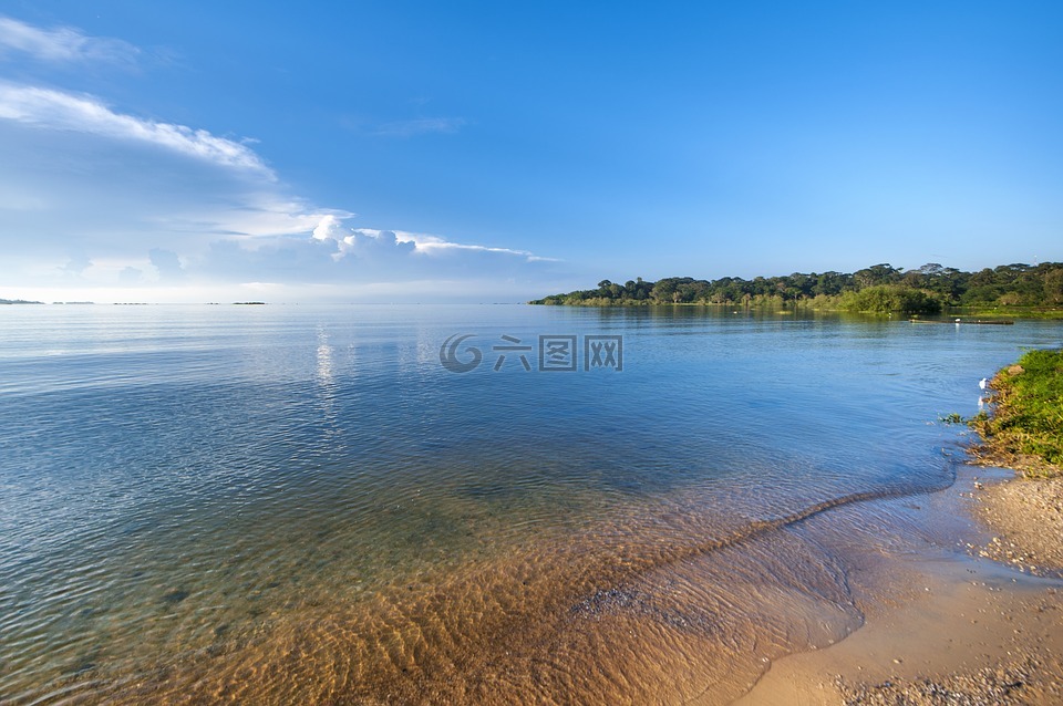
{"label": "calm clear lake water from the horizon to the sandy beach", "polygon": [[[460,333],[484,362],[455,374]],[[547,334],[577,336],[580,370],[537,370]],[[623,371],[584,371],[585,335],[621,335]],[[532,371],[493,370],[503,336]],[[858,624],[844,561],[787,528],[948,486],[938,415],[1061,339],[693,308],[0,308],[0,702],[704,693]]]}

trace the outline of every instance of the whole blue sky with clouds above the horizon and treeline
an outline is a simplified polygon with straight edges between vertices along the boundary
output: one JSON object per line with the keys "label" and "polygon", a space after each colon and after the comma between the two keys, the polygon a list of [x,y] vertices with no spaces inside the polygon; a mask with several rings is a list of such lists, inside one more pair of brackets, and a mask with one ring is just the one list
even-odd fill
{"label": "whole blue sky with clouds above the horizon and treeline", "polygon": [[0,298],[1063,260],[1063,3],[0,0]]}

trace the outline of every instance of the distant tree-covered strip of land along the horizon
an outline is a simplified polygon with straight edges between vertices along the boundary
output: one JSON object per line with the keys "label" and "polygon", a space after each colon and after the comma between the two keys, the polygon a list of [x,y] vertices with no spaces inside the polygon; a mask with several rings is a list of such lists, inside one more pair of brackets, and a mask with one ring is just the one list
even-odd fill
{"label": "distant tree-covered strip of land along the horizon", "polygon": [[[783,277],[724,277],[695,280],[669,277],[657,282],[642,278],[618,284],[598,282],[597,289],[553,294],[529,304],[568,307],[639,307],[700,304],[726,307],[807,307],[835,311],[937,314],[946,308],[973,308],[1060,313],[1063,307],[1063,263],[1001,264],[962,272],[936,262],[905,271],[888,263],[853,273],[794,272]],[[1000,310],[1004,311],[1001,312]]]}

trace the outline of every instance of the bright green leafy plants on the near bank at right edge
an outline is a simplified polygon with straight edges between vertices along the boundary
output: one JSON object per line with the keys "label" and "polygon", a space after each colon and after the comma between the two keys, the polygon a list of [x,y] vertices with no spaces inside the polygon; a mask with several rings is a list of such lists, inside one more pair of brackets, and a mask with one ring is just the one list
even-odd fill
{"label": "bright green leafy plants on the near bank at right edge", "polygon": [[1030,477],[1063,474],[1063,351],[1029,351],[989,386],[992,414],[968,421],[984,439],[976,455]]}

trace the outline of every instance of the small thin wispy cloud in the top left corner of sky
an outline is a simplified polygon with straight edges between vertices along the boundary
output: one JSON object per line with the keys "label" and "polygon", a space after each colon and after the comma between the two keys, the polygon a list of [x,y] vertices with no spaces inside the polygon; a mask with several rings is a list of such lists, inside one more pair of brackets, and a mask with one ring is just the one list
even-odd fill
{"label": "small thin wispy cloud in the top left corner of sky", "polygon": [[0,59],[13,53],[47,62],[132,63],[140,50],[118,39],[86,37],[69,27],[45,30],[0,17]]}

